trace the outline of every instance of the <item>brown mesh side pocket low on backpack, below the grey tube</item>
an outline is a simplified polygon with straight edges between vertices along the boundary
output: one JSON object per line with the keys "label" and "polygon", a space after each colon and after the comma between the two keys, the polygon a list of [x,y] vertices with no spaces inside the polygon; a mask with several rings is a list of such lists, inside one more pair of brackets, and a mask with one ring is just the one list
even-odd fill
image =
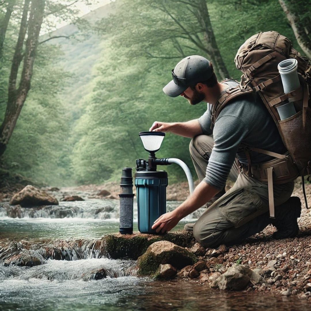
{"label": "brown mesh side pocket low on backpack, below the grey tube", "polygon": [[308,115],[306,117],[305,126],[302,123],[302,111],[279,121],[285,147],[294,158],[301,173],[304,173],[303,169],[311,160],[311,120]]}

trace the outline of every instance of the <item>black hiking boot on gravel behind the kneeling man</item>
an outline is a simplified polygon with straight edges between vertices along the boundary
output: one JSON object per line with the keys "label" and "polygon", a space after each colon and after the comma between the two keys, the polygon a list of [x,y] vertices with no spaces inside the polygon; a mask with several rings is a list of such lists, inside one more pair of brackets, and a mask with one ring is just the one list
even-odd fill
{"label": "black hiking boot on gravel behind the kneeling man", "polygon": [[285,203],[276,207],[276,219],[272,221],[277,229],[272,234],[274,239],[293,238],[298,234],[297,218],[301,214],[299,197],[290,197]]}

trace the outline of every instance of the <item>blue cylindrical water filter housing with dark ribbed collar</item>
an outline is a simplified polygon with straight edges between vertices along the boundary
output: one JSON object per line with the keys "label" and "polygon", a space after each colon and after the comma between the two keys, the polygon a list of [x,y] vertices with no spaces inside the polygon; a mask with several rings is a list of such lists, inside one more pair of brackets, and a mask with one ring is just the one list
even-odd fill
{"label": "blue cylindrical water filter housing with dark ribbed collar", "polygon": [[151,227],[157,218],[166,213],[167,184],[165,171],[143,170],[135,173],[138,230],[141,233],[156,234]]}

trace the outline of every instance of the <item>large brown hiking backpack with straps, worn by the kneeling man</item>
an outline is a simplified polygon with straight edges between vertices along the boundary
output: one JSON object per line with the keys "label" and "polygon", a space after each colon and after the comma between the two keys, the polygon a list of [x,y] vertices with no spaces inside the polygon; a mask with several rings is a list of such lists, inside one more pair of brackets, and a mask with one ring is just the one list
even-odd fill
{"label": "large brown hiking backpack with straps, worn by the kneeling man", "polygon": [[[284,94],[281,76],[277,67],[281,61],[288,58],[295,58],[298,61],[297,71],[300,87],[288,94]],[[234,97],[236,97],[249,92],[250,89],[258,92],[272,115],[284,145],[289,152],[290,161],[287,158],[286,160],[290,162],[288,167],[292,172],[288,174],[288,177],[291,175],[290,179],[293,180],[299,175],[302,176],[304,190],[303,176],[311,172],[311,99],[309,95],[311,63],[309,59],[300,56],[292,47],[289,39],[276,31],[267,31],[260,32],[247,39],[239,48],[234,62],[236,67],[243,72],[243,75],[239,87],[230,90],[231,94],[234,94]],[[213,114],[214,121],[221,109],[229,102],[229,95],[225,94],[217,102]],[[288,98],[294,100],[297,113],[290,118],[281,120],[276,108]],[[285,159],[284,155],[277,155],[258,148],[250,147],[248,150],[262,152],[278,159],[282,159],[282,157]],[[248,172],[250,172],[250,167],[251,164],[249,162]],[[293,170],[296,171],[296,174]],[[266,168],[265,171],[269,188],[270,214],[273,216],[273,190],[271,189],[272,184],[269,185],[269,180],[273,177],[273,183],[282,183],[282,178],[279,178],[279,182],[276,182],[276,167]],[[288,182],[288,180],[288,178],[285,178],[283,182]],[[304,198],[308,208],[305,190]]]}

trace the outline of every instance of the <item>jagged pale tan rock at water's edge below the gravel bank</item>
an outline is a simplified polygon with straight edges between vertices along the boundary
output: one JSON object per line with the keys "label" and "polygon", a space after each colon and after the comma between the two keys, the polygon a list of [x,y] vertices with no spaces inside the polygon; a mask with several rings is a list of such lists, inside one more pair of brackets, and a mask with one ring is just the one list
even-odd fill
{"label": "jagged pale tan rock at water's edge below the gravel bank", "polygon": [[243,290],[249,282],[263,283],[264,278],[243,265],[234,265],[211,283],[212,288],[221,290]]}

